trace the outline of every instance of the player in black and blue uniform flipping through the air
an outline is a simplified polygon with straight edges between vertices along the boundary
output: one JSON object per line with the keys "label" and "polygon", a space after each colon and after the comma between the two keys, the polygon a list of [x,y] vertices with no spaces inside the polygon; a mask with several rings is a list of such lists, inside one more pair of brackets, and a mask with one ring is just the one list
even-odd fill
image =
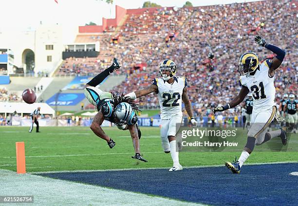
{"label": "player in black and blue uniform flipping through the air", "polygon": [[113,59],[113,64],[108,69],[96,75],[90,82],[85,85],[85,96],[91,104],[93,104],[98,113],[94,116],[90,129],[98,137],[107,141],[109,147],[112,149],[115,142],[110,138],[100,127],[104,120],[108,120],[117,125],[120,130],[130,130],[130,135],[135,150],[135,155],[131,158],[147,162],[140,155],[139,138],[141,133],[137,126],[137,116],[134,110],[138,110],[134,101],[123,94],[118,96],[108,92],[103,92],[96,88],[108,75],[114,70],[119,69],[119,63],[116,58]]}

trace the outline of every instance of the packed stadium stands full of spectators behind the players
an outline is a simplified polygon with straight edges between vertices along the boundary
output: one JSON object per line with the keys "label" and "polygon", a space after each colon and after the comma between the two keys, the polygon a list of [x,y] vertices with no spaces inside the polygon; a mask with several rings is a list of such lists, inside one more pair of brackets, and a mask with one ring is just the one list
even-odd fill
{"label": "packed stadium stands full of spectators behind the players", "polygon": [[[112,91],[129,93],[149,86],[153,78],[159,77],[160,61],[172,59],[177,75],[187,79],[187,93],[195,115],[210,115],[214,105],[226,104],[240,91],[237,70],[243,53],[255,52],[261,62],[273,58],[271,51],[254,42],[254,37],[260,35],[286,51],[275,74],[279,101],[284,93],[296,94],[298,86],[295,19],[297,9],[293,0],[157,8],[130,15],[117,34],[106,33],[108,38],[100,38],[102,50],[97,58],[79,58],[78,64],[62,66],[60,72],[97,74],[115,56],[122,65],[118,73],[126,74],[127,78]],[[114,36],[121,37],[116,44],[110,41]],[[208,58],[209,53],[214,57]],[[138,101],[141,106],[158,106],[155,94]],[[240,113],[240,107],[230,112]]]}

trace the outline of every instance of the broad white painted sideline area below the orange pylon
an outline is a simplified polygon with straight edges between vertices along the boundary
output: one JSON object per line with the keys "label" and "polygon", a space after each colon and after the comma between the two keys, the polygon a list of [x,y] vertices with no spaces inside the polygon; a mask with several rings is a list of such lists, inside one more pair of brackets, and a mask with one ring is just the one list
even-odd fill
{"label": "broad white painted sideline area below the orange pylon", "polygon": [[34,195],[34,204],[93,206],[204,206],[130,191],[0,169],[0,194]]}

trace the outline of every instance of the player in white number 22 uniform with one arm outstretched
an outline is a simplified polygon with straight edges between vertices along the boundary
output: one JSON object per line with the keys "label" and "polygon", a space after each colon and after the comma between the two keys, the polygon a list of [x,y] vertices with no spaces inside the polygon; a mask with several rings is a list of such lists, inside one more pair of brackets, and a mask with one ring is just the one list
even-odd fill
{"label": "player in white number 22 uniform with one arm outstretched", "polygon": [[182,123],[182,100],[187,114],[194,126],[197,121],[193,117],[191,103],[187,96],[187,81],[183,76],[175,76],[176,64],[169,59],[163,60],[159,66],[160,78],[154,78],[152,84],[143,90],[137,90],[127,96],[132,99],[155,92],[161,109],[161,140],[166,153],[171,153],[173,167],[169,171],[182,170],[179,163],[179,154],[176,151],[176,124]]}

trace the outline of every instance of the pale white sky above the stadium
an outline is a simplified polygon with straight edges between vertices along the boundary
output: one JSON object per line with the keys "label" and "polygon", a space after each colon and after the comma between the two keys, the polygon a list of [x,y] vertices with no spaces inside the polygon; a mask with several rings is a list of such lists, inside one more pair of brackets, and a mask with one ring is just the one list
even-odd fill
{"label": "pale white sky above the stadium", "polygon": [[[56,3],[57,1],[57,3]],[[1,0],[0,31],[35,28],[40,22],[58,23],[63,26],[85,25],[90,21],[102,24],[102,17],[115,18],[115,5],[126,9],[142,8],[148,0]],[[248,2],[255,0],[189,0],[193,6]],[[161,6],[182,7],[186,0],[151,0]]]}

